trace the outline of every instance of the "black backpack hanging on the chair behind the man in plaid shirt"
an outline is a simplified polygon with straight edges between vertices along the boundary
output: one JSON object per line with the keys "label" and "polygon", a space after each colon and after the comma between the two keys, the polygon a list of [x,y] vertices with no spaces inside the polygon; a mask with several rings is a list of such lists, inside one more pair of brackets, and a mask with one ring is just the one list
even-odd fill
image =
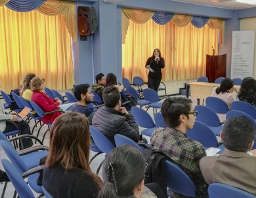
{"label": "black backpack hanging on the chair behind the man in plaid shirt", "polygon": [[146,167],[144,184],[155,182],[167,196],[167,182],[165,177],[165,160],[170,160],[163,152],[154,151],[152,148],[145,149],[143,156],[148,166]]}

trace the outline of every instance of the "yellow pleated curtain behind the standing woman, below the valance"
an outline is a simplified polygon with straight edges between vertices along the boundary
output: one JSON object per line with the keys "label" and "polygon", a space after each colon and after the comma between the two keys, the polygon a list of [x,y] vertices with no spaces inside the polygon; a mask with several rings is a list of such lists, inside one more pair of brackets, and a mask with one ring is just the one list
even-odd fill
{"label": "yellow pleated curtain behind the standing woman, below the valance", "polygon": [[[218,49],[218,30],[208,25],[198,29],[192,24],[178,27],[171,20],[158,25],[153,20],[145,24],[129,21],[123,44],[123,76],[132,80],[141,76],[147,81],[146,59],[160,48],[165,58],[163,80],[182,80],[205,75],[206,54],[211,54],[211,46]],[[218,53],[218,52],[217,52]]]}

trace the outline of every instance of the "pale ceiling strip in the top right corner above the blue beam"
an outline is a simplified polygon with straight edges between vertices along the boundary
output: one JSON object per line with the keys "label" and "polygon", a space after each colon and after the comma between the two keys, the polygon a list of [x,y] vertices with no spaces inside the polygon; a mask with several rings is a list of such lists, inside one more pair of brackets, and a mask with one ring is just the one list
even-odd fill
{"label": "pale ceiling strip in the top right corner above the blue beam", "polygon": [[185,3],[194,3],[199,5],[209,5],[213,7],[230,8],[230,9],[243,9],[243,8],[253,8],[256,5],[249,5],[245,3],[238,3],[234,0],[171,0],[171,1],[181,1]]}

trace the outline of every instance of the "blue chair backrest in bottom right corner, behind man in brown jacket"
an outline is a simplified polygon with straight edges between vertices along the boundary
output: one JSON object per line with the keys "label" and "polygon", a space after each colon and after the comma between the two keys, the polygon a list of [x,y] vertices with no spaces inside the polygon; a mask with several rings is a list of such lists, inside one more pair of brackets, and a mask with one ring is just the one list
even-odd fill
{"label": "blue chair backrest in bottom right corner, behind man in brown jacket", "polygon": [[244,190],[219,183],[210,184],[208,193],[209,198],[256,198]]}

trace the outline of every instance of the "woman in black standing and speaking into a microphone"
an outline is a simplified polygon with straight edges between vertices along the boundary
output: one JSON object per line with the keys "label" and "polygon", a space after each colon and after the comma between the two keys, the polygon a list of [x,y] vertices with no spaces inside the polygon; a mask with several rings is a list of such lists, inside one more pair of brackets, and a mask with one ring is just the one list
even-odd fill
{"label": "woman in black standing and speaking into a microphone", "polygon": [[149,69],[148,88],[158,92],[161,82],[161,69],[165,67],[165,59],[161,57],[159,49],[155,49],[153,55],[146,61],[145,67]]}

